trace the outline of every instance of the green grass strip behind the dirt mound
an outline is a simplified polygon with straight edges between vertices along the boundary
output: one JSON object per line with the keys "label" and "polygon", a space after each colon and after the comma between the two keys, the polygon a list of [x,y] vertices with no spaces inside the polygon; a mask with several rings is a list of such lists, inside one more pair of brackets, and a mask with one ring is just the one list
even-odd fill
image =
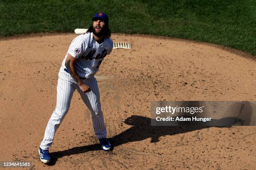
{"label": "green grass strip behind the dirt mound", "polygon": [[74,32],[99,11],[113,32],[179,37],[256,55],[256,0],[1,0],[0,36]]}

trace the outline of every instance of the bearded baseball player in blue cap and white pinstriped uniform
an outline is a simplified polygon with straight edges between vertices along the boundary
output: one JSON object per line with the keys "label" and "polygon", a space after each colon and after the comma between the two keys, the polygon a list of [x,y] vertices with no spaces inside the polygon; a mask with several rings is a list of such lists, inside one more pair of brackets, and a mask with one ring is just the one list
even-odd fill
{"label": "bearded baseball player in blue cap and white pinstriped uniform", "polygon": [[54,134],[67,114],[74,91],[80,93],[82,100],[92,113],[92,123],[101,148],[111,149],[106,138],[107,131],[100,107],[100,93],[94,75],[106,55],[113,49],[108,26],[108,15],[96,13],[93,24],[86,33],[74,38],[69,46],[61,68],[57,85],[56,108],[46,126],[44,139],[39,147],[40,160],[49,163],[49,147],[54,140]]}

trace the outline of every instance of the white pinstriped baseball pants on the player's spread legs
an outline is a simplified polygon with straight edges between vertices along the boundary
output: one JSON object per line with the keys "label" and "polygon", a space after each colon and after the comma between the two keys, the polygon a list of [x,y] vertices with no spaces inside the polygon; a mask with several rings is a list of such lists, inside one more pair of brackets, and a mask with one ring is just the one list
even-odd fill
{"label": "white pinstriped baseball pants on the player's spread legs", "polygon": [[83,82],[88,85],[91,89],[90,92],[82,92],[78,87],[74,79],[69,75],[69,73],[63,70],[61,67],[59,71],[59,79],[57,85],[57,103],[54,112],[51,115],[50,120],[46,126],[44,133],[44,139],[41,142],[40,147],[43,150],[49,149],[54,140],[54,134],[59,128],[60,123],[67,114],[70,102],[74,91],[77,89],[80,93],[82,100],[87,105],[92,113],[92,124],[94,128],[95,135],[97,138],[105,138],[107,131],[104,124],[104,118],[102,115],[100,107],[100,93],[97,85],[97,80],[92,77],[88,80],[83,80]]}

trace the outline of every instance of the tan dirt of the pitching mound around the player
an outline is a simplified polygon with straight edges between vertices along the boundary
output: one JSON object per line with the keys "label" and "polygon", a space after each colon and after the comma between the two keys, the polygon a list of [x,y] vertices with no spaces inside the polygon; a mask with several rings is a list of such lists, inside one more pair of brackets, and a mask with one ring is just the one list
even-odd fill
{"label": "tan dirt of the pitching mound around the player", "polygon": [[164,37],[113,34],[114,49],[97,72],[114,150],[95,138],[89,110],[74,92],[44,165],[38,147],[56,105],[61,61],[74,34],[0,40],[0,161],[28,169],[256,169],[256,127],[154,127],[151,101],[255,100],[256,61],[236,50]]}

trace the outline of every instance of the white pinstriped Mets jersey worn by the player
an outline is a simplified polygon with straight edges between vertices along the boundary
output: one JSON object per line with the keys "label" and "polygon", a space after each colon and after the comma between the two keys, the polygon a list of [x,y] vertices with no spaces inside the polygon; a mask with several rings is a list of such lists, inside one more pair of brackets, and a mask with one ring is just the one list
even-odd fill
{"label": "white pinstriped Mets jersey worn by the player", "polygon": [[[110,54],[112,49],[113,41],[111,38],[105,38],[105,40],[99,44],[93,38],[93,33],[88,32],[74,38],[67,54],[69,53],[77,58],[74,67],[77,70],[78,76],[91,78],[99,70],[100,63],[106,55]],[[62,69],[65,68],[67,54],[61,65]]]}

